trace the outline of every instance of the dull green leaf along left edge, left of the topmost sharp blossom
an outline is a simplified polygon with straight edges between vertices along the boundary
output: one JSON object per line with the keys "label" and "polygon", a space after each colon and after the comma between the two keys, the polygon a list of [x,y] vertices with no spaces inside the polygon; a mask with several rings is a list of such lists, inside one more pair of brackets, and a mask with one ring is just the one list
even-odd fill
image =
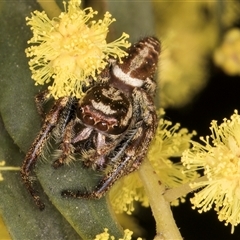
{"label": "dull green leaf along left edge, left of the topmost sharp blossom", "polygon": [[0,111],[7,131],[24,151],[40,129],[34,104],[39,88],[31,80],[24,52],[31,36],[25,17],[36,8],[27,1],[2,2],[0,15]]}

